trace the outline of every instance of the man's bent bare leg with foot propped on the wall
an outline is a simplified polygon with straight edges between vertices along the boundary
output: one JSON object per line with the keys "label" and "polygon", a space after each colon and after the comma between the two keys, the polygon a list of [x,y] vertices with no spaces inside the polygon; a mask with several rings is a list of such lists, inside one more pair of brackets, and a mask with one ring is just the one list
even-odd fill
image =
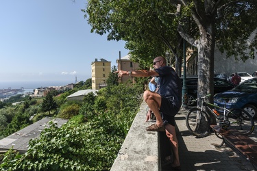
{"label": "man's bent bare leg with foot propped on the wall", "polygon": [[148,107],[151,111],[154,112],[154,116],[156,116],[156,124],[158,127],[162,127],[162,117],[160,116],[160,103],[161,103],[161,96],[156,92],[151,92],[146,90],[144,92],[144,100],[147,103]]}

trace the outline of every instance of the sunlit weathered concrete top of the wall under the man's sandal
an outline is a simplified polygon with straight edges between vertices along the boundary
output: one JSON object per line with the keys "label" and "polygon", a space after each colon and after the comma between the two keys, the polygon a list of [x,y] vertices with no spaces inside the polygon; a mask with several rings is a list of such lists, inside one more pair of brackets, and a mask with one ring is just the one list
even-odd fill
{"label": "sunlit weathered concrete top of the wall under the man's sandal", "polygon": [[111,171],[160,170],[158,132],[145,130],[151,122],[145,122],[147,104],[145,101],[127,133]]}

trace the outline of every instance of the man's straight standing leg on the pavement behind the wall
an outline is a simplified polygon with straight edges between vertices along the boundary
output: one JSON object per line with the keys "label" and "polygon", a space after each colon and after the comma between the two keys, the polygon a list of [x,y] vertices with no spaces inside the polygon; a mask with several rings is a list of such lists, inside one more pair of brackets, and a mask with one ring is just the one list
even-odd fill
{"label": "man's straight standing leg on the pavement behind the wall", "polygon": [[174,153],[173,167],[180,166],[180,158],[178,154],[178,139],[175,132],[175,127],[172,126],[171,124],[166,124],[165,129],[166,129],[166,135],[167,137],[169,137],[169,140],[171,141],[171,146]]}

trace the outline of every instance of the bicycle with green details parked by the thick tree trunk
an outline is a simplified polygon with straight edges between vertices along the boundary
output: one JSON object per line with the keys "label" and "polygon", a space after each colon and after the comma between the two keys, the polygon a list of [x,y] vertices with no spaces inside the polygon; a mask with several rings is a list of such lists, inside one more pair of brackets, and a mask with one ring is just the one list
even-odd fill
{"label": "bicycle with green details parked by the thick tree trunk", "polygon": [[[205,101],[210,94],[193,101],[201,101],[201,107],[194,107],[186,114],[186,127],[193,135],[205,137],[210,133],[210,114],[215,116],[222,129],[236,129],[240,133],[250,135],[254,131],[254,119],[244,109],[226,109]],[[214,109],[211,109],[214,107]],[[206,111],[204,111],[206,107]],[[217,111],[216,109],[219,109]],[[223,111],[221,114],[220,111]]]}

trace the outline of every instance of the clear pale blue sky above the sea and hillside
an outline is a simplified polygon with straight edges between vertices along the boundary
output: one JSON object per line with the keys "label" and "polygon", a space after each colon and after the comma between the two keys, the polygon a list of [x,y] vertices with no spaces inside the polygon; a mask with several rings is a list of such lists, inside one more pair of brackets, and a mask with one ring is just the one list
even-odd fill
{"label": "clear pale blue sky above the sea and hillside", "polygon": [[117,66],[125,42],[90,33],[85,8],[86,0],[1,1],[0,88],[86,81],[95,58]]}

